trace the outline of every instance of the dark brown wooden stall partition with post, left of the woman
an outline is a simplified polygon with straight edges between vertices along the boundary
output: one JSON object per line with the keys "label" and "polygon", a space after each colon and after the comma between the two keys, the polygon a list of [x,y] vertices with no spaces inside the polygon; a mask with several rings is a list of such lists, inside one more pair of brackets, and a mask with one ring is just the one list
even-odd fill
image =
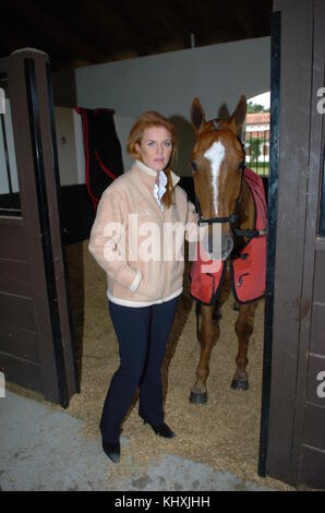
{"label": "dark brown wooden stall partition with post, left of the woman", "polygon": [[0,369],[8,381],[67,406],[79,390],[48,58],[20,50],[8,76],[20,216],[0,216]]}

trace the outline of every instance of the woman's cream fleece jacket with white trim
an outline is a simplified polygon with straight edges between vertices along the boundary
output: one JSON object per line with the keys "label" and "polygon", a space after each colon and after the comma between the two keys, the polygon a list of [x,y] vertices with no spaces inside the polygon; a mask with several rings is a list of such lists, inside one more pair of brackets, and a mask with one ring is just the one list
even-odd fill
{"label": "woman's cream fleece jacket with white trim", "polygon": [[184,238],[196,240],[197,214],[173,172],[172,205],[161,211],[153,193],[156,176],[135,160],[97,207],[88,248],[107,273],[109,300],[118,305],[146,307],[182,293]]}

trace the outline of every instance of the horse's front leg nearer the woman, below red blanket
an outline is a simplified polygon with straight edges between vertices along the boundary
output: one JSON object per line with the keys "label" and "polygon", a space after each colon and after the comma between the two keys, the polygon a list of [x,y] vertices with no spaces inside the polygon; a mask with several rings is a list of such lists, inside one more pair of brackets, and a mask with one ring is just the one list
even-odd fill
{"label": "horse's front leg nearer the woman, below red blanket", "polygon": [[[205,404],[207,402],[206,392],[206,380],[208,377],[208,363],[212,354],[214,343],[217,341],[220,334],[219,321],[213,322],[214,306],[201,307],[201,354],[200,362],[196,369],[196,381],[191,390],[190,403],[193,404]],[[217,336],[216,332],[217,331]]]}

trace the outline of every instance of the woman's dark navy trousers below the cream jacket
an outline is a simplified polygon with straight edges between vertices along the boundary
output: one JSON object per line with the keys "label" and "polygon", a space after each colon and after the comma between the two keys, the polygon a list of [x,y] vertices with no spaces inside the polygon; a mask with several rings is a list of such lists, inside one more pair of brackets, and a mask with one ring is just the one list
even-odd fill
{"label": "woman's dark navy trousers below the cream jacket", "polygon": [[117,443],[120,425],[139,385],[139,414],[152,426],[164,422],[161,366],[177,308],[177,298],[143,308],[109,301],[119,342],[120,366],[104,403],[100,432],[104,442]]}

